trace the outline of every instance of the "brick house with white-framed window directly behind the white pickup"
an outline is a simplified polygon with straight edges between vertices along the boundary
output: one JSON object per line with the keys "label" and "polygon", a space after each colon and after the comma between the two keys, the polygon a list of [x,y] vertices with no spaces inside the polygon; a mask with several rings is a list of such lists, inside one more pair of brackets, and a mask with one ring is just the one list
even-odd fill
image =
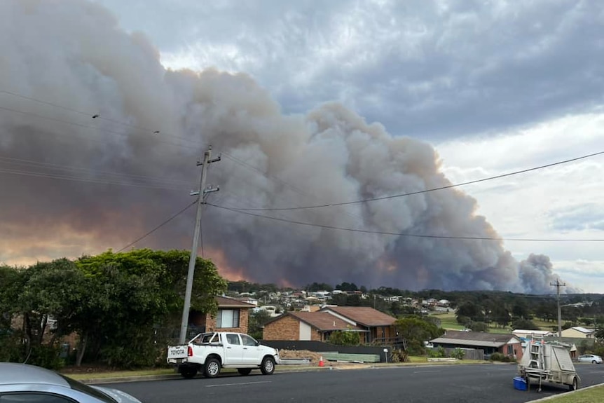
{"label": "brick house with white-framed window directly behind the white pickup", "polygon": [[240,332],[247,333],[249,310],[254,308],[251,303],[217,296],[218,313],[216,317],[207,313],[191,310],[188,315],[189,327],[200,332]]}

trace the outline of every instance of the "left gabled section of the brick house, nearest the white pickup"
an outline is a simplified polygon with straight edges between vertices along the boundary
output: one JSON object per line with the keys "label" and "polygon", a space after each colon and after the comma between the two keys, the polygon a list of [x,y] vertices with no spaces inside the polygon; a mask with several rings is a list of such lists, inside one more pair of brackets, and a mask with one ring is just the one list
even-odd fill
{"label": "left gabled section of the brick house, nearest the white pickup", "polygon": [[264,325],[263,340],[329,341],[337,330],[362,331],[327,312],[288,312]]}

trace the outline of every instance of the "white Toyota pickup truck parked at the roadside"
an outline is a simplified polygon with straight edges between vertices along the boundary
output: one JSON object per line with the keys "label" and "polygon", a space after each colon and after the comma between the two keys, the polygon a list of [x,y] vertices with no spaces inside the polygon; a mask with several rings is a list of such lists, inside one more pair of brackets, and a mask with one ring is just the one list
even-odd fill
{"label": "white Toyota pickup truck parked at the roadside", "polygon": [[212,332],[200,333],[186,345],[168,346],[167,362],[176,364],[184,378],[193,378],[198,371],[214,378],[222,368],[236,368],[242,375],[260,369],[270,375],[280,357],[278,350],[262,346],[247,334]]}

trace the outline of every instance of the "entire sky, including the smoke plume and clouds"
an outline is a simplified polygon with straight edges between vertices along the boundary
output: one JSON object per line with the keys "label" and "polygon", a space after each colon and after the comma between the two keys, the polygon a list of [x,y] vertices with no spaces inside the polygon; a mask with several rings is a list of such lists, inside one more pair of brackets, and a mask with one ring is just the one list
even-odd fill
{"label": "entire sky, including the smoke plume and clouds", "polygon": [[[228,278],[603,292],[604,155],[560,163],[604,151],[603,23],[596,1],[4,1],[0,262],[190,248],[194,209],[129,244],[194,201],[212,144],[200,252]],[[468,236],[495,240],[446,238]]]}

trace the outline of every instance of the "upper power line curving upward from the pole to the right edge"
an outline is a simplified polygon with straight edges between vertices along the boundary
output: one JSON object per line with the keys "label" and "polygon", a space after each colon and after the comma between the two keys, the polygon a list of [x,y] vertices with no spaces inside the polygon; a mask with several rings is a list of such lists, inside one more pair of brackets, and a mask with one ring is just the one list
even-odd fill
{"label": "upper power line curving upward from the pole to the right edge", "polygon": [[565,163],[570,163],[576,160],[581,160],[584,158],[590,158],[593,156],[598,156],[600,154],[604,154],[604,151],[598,151],[597,153],[591,153],[588,154],[586,156],[580,156],[577,158],[570,158],[569,160],[563,160],[563,161],[558,161],[557,163],[551,163],[551,164],[547,164],[547,165],[540,165],[538,167],[534,167],[534,168],[528,168],[526,170],[519,170],[519,171],[514,171],[514,172],[508,172],[502,175],[495,175],[493,177],[486,177],[486,178],[482,178],[482,179],[476,179],[473,181],[469,181],[469,182],[462,182],[459,184],[451,184],[451,185],[446,185],[446,186],[440,186],[437,188],[432,188],[432,189],[425,189],[423,191],[415,191],[415,192],[409,192],[409,193],[399,193],[396,195],[391,195],[391,196],[380,196],[380,197],[376,197],[376,198],[366,198],[366,199],[362,199],[362,200],[353,200],[353,201],[348,201],[348,202],[341,202],[341,203],[329,203],[329,204],[322,204],[322,205],[309,205],[309,206],[304,206],[304,207],[275,207],[275,208],[245,208],[245,207],[236,207],[235,210],[242,210],[242,211],[282,211],[282,210],[308,210],[308,209],[313,209],[313,208],[320,208],[320,207],[336,207],[336,206],[341,206],[341,205],[352,205],[352,204],[357,204],[357,203],[367,203],[367,202],[371,202],[371,201],[377,201],[377,200],[387,200],[387,199],[392,199],[392,198],[401,198],[401,197],[405,197],[405,196],[413,196],[413,195],[418,195],[421,193],[428,193],[428,192],[432,192],[432,191],[440,191],[440,190],[444,190],[444,189],[451,189],[454,187],[458,187],[458,186],[465,186],[465,185],[469,185],[469,184],[476,184],[479,182],[486,182],[486,181],[490,181],[493,179],[500,179],[503,177],[510,177],[512,175],[519,175],[519,174],[523,174],[526,172],[530,172],[530,171],[535,171],[535,170],[541,170],[543,168],[549,168],[549,167],[553,167],[554,165],[561,165],[561,164],[565,164]]}

